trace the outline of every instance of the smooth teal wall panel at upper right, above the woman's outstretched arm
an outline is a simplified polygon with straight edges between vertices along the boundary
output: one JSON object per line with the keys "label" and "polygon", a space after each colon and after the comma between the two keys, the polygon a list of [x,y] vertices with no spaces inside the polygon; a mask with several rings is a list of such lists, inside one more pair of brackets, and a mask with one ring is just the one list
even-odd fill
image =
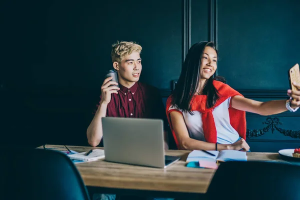
{"label": "smooth teal wall panel at upper right, above the woman's outstretched arm", "polygon": [[298,0],[218,0],[218,73],[236,89],[289,87],[300,62]]}

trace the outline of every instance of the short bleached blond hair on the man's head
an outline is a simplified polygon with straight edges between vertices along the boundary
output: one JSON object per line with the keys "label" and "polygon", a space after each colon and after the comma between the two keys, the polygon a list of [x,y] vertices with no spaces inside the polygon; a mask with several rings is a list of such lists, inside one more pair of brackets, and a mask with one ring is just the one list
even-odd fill
{"label": "short bleached blond hair on the man's head", "polygon": [[112,44],[111,60],[112,62],[120,63],[124,57],[130,55],[134,51],[140,53],[141,46],[133,41],[117,41]]}

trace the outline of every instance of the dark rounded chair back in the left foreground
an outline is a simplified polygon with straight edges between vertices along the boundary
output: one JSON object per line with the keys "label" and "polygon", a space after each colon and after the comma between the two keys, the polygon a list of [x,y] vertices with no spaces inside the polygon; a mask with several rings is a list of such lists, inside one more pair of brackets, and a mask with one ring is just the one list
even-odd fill
{"label": "dark rounded chair back in the left foreground", "polygon": [[[83,180],[63,153],[44,149],[1,149],[3,199],[89,199]],[[5,153],[4,153],[5,152]]]}

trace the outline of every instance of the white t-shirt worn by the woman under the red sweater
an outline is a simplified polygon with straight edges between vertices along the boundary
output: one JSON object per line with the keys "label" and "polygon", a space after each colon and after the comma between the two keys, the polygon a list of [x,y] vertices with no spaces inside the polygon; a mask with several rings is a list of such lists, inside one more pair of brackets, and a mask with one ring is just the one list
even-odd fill
{"label": "white t-shirt worn by the woman under the red sweater", "polygon": [[[239,135],[237,131],[231,126],[229,119],[229,104],[231,97],[227,98],[221,104],[212,110],[214,124],[216,128],[216,142],[222,144],[234,143]],[[169,112],[179,111],[182,113],[188,134],[190,138],[205,141],[203,127],[202,127],[202,114],[200,111],[193,111],[191,115],[188,111],[175,108],[173,105],[169,107]]]}

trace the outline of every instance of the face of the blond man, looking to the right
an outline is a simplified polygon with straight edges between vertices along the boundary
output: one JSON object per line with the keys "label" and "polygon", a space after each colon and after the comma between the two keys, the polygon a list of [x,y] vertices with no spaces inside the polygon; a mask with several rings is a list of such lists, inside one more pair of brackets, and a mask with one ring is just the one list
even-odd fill
{"label": "face of the blond man, looking to the right", "polygon": [[121,63],[117,64],[114,68],[118,71],[119,79],[128,82],[137,82],[141,72],[141,58],[139,53],[134,51],[124,57]]}

